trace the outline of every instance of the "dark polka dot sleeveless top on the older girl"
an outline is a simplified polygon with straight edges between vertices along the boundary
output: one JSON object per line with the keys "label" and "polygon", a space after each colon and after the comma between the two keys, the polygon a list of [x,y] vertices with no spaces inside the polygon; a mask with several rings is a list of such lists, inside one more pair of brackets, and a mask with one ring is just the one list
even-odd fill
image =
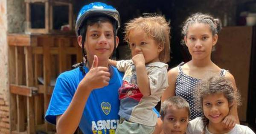
{"label": "dark polka dot sleeveless top on the older girl", "polygon": [[[182,65],[184,65],[184,62],[178,65],[178,76],[175,83],[176,84],[175,95],[182,97],[189,103],[190,110],[191,110],[190,120],[193,120],[196,117],[202,116],[202,113],[197,111],[195,108],[194,95],[193,95],[195,93],[195,87],[198,85],[198,82],[200,82],[200,79],[196,79],[196,78],[190,77],[187,74],[184,74],[181,68]],[[225,76],[225,74],[226,74],[226,70],[221,69],[220,76]]]}

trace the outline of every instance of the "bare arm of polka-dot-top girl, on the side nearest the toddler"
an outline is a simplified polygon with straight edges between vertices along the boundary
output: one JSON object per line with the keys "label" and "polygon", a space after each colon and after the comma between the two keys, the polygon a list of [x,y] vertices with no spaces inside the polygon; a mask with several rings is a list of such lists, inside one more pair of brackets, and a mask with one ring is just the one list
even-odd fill
{"label": "bare arm of polka-dot-top girl, on the side nearest the toddler", "polygon": [[168,71],[168,87],[163,92],[161,102],[163,103],[164,100],[168,99],[169,97],[175,96],[175,82],[178,76],[178,68],[172,68]]}

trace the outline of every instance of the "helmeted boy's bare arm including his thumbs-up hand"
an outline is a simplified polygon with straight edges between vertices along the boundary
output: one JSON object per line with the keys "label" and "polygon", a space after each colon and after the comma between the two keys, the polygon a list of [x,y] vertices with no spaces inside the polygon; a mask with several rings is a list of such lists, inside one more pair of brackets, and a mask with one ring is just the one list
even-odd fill
{"label": "helmeted boy's bare arm including his thumbs-up hand", "polygon": [[92,67],[79,83],[67,110],[56,117],[57,134],[73,134],[76,131],[90,92],[95,88],[108,86],[109,80],[108,68],[98,67],[98,58],[94,56]]}

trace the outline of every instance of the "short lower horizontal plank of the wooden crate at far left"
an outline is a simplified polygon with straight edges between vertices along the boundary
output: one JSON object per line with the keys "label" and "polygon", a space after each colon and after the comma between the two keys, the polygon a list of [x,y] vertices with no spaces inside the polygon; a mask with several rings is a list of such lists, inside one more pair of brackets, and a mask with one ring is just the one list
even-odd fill
{"label": "short lower horizontal plank of the wooden crate at far left", "polygon": [[18,94],[22,96],[32,97],[32,95],[37,94],[38,88],[36,87],[27,87],[27,86],[19,86],[19,85],[10,85],[10,93]]}

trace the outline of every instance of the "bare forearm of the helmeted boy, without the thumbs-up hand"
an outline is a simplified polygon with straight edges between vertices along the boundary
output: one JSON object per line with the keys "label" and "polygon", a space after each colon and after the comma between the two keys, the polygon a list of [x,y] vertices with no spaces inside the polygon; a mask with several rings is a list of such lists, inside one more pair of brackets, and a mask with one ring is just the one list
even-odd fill
{"label": "bare forearm of the helmeted boy, without the thumbs-up hand", "polygon": [[[84,106],[91,90],[81,89],[79,86],[67,110],[56,120],[57,134],[73,134],[79,125]],[[70,122],[70,120],[72,120]]]}

